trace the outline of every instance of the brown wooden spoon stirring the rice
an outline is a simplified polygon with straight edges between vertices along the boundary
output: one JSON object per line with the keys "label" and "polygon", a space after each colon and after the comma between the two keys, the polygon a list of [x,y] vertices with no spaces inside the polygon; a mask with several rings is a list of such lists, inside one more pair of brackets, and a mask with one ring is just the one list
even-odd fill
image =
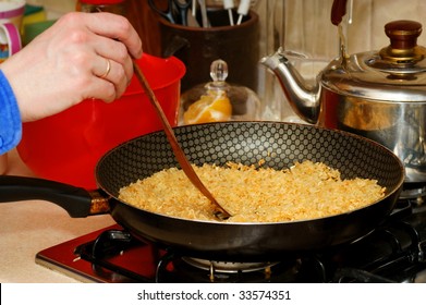
{"label": "brown wooden spoon stirring the rice", "polygon": [[171,148],[173,149],[174,156],[177,157],[179,164],[182,167],[182,170],[190,179],[191,183],[194,184],[194,186],[197,187],[199,192],[202,192],[203,195],[205,195],[216,206],[217,209],[214,211],[215,216],[221,220],[228,219],[230,217],[230,213],[215,199],[211,193],[199,180],[198,175],[194,171],[190,161],[186,159],[185,152],[183,152],[181,146],[179,145],[178,139],[174,136],[173,130],[170,126],[170,123],[165,112],[162,112],[161,106],[158,102],[156,95],[154,94],[148,82],[146,81],[144,73],[142,72],[137,63],[134,63],[133,66],[137,80],[141,82],[142,87],[144,88],[144,91],[147,94],[150,103],[155,108],[158,118],[161,120],[166,136],[170,143]]}

